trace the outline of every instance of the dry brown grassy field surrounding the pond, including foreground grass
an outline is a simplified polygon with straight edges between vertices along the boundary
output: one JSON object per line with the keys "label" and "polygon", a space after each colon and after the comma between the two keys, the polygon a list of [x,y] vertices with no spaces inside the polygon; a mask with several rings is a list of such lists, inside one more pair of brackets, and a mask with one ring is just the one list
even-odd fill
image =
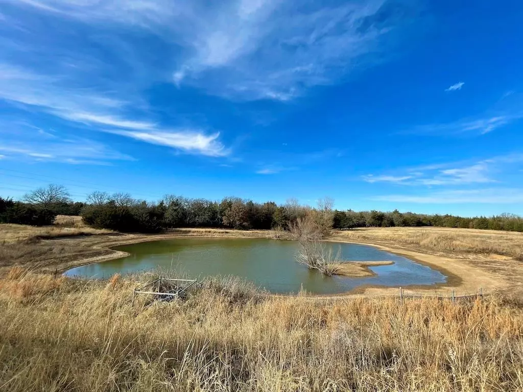
{"label": "dry brown grassy field surrounding the pond, including foreground grass", "polygon": [[81,223],[0,225],[0,390],[523,392],[519,233],[333,233],[333,240],[372,244],[445,271],[449,284],[441,290],[484,287],[490,295],[475,301],[401,304],[381,296],[396,289],[372,287],[363,295],[269,296],[213,280],[184,301],[142,295],[132,304],[133,288],[151,274],[86,281],[41,272],[120,256],[109,248],[126,243],[282,234],[89,231]]}

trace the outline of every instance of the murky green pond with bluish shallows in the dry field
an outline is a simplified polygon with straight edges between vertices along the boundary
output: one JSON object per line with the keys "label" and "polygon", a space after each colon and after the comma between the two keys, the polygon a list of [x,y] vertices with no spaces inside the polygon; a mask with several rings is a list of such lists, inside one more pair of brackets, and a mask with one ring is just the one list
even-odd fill
{"label": "murky green pond with bluish shallows in the dry field", "polygon": [[349,278],[325,276],[295,261],[296,241],[266,238],[175,238],[118,246],[130,253],[120,259],[87,264],[66,272],[70,276],[108,278],[154,269],[174,270],[189,278],[234,275],[252,281],[272,293],[343,293],[362,285],[407,286],[444,283],[446,276],[412,260],[377,248],[356,244],[328,243],[351,261],[393,261],[369,267],[373,276]]}

